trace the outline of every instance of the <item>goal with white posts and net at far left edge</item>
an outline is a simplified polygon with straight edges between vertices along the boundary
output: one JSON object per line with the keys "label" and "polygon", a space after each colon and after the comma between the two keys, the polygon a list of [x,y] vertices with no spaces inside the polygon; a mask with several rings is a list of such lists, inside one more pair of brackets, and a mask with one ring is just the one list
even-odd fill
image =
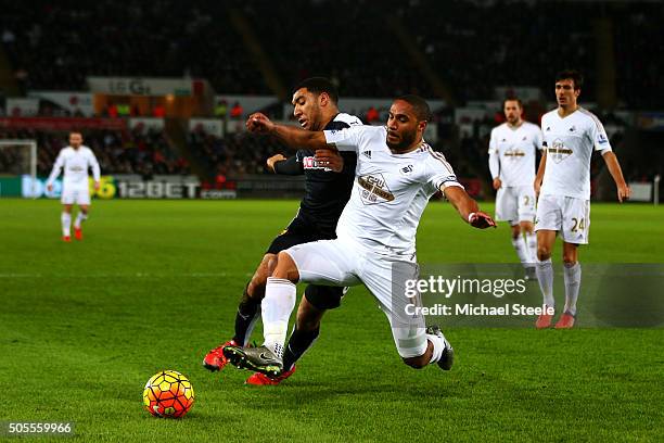
{"label": "goal with white posts and net at far left edge", "polygon": [[34,194],[26,182],[37,183],[37,141],[0,140],[0,197]]}

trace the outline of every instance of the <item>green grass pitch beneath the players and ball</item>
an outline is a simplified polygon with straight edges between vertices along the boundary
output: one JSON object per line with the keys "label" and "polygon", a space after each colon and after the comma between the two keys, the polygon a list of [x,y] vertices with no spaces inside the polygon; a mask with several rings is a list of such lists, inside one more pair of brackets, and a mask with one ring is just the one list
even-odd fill
{"label": "green grass pitch beneath the players and ball", "polygon": [[[58,202],[0,200],[0,420],[75,421],[79,439],[110,442],[664,439],[662,329],[443,325],[455,368],[413,370],[357,288],[282,385],[206,371],[204,354],[231,337],[242,288],[296,206],[99,201],[85,241],[65,244]],[[663,216],[593,204],[582,263],[664,262]],[[446,203],[430,204],[418,236],[423,263],[515,260],[506,225],[472,230]],[[184,419],[142,409],[159,369],[192,381]]]}

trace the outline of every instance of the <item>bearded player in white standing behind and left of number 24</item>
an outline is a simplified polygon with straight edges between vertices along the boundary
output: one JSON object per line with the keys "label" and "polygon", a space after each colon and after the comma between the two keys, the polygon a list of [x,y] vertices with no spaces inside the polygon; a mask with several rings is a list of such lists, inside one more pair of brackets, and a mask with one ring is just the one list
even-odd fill
{"label": "bearded player in white standing behind and left of number 24", "polygon": [[535,221],[535,162],[542,148],[541,130],[524,122],[523,104],[519,99],[503,102],[507,119],[491,130],[489,169],[496,193],[496,221],[509,221],[512,246],[526,269],[526,278],[535,279],[537,239]]}

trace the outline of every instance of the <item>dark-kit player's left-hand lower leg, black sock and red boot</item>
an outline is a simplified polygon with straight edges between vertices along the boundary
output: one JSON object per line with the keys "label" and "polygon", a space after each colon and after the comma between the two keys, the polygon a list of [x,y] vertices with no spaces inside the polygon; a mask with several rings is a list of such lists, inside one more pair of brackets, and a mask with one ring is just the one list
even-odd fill
{"label": "dark-kit player's left-hand lower leg, black sock and red boot", "polygon": [[210,350],[203,358],[203,366],[212,371],[221,370],[228,363],[224,356],[224,347],[228,345],[244,347],[258,317],[260,316],[260,302],[265,296],[265,284],[268,276],[277,264],[277,254],[265,254],[260,264],[254,271],[252,279],[244,287],[238,312],[235,314],[235,329],[233,338],[221,345]]}

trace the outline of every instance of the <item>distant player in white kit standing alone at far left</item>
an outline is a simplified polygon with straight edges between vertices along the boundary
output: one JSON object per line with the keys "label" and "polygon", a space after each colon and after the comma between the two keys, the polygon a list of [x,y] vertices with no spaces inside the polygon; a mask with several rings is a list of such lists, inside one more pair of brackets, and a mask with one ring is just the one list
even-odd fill
{"label": "distant player in white kit standing alone at far left", "polygon": [[62,239],[63,241],[72,241],[72,206],[78,205],[78,215],[74,221],[74,235],[77,240],[82,240],[81,224],[88,218],[90,210],[90,188],[88,185],[88,168],[92,168],[92,177],[94,179],[94,189],[99,189],[100,169],[97,157],[92,150],[82,144],[82,135],[78,131],[69,132],[69,145],[63,148],[58,154],[53,170],[47,181],[47,189],[53,189],[53,181],[60,175],[61,169],[64,169],[64,178],[62,180],[61,202],[63,211],[61,215],[62,221]]}

